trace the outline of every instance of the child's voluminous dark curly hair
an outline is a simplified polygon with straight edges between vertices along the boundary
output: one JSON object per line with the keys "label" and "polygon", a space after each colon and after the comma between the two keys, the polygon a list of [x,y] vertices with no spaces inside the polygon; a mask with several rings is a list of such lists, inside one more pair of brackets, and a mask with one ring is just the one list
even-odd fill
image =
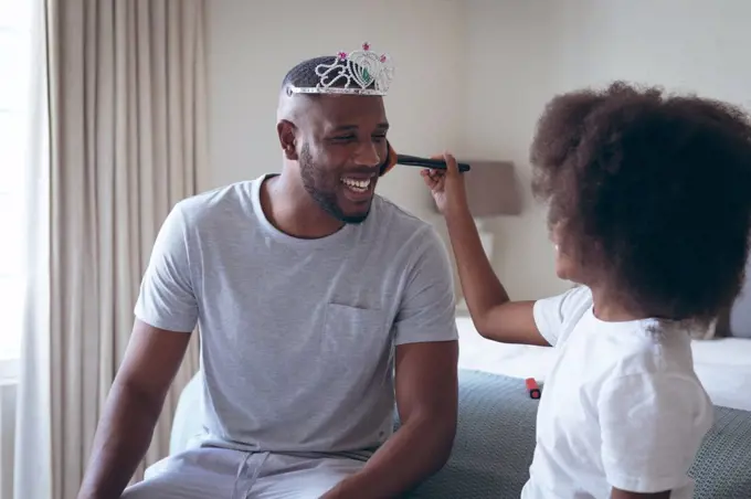
{"label": "child's voluminous dark curly hair", "polygon": [[653,317],[711,321],[738,295],[751,224],[741,109],[614,83],[554,97],[533,192],[586,273]]}

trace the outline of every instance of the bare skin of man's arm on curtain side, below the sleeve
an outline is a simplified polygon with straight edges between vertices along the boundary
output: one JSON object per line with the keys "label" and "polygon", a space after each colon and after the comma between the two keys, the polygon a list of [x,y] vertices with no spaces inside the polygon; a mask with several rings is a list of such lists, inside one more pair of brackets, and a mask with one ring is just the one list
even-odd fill
{"label": "bare skin of man's arm on curtain side, below the sleeve", "polygon": [[151,443],[190,333],[136,321],[107,395],[78,499],[120,497]]}

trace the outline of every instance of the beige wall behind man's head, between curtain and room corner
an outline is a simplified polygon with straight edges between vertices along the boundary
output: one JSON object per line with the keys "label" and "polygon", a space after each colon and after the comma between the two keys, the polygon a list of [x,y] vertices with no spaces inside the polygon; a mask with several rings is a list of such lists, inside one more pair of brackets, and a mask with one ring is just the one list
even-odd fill
{"label": "beige wall behind man's head, between curtain and room corner", "polygon": [[[462,150],[466,20],[461,2],[209,2],[212,171],[221,185],[278,171],[276,102],[284,74],[304,59],[358,49],[389,52],[396,73],[387,113],[394,148]],[[452,67],[453,66],[453,67]],[[379,192],[435,220],[417,169],[396,169]]]}

